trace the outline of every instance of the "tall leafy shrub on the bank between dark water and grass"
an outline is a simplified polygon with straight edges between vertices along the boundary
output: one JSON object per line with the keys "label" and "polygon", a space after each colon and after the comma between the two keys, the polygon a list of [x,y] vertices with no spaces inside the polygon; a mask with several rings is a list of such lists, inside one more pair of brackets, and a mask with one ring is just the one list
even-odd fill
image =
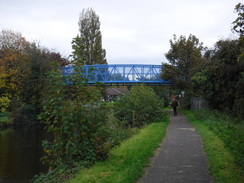
{"label": "tall leafy shrub on the bank between dark water and grass", "polygon": [[86,167],[108,153],[104,149],[101,149],[103,153],[97,151],[97,145],[103,143],[98,142],[98,138],[106,121],[105,108],[98,103],[99,90],[86,86],[79,72],[81,68],[75,69],[69,78],[69,87],[57,66],[48,77],[50,87],[41,119],[54,134],[53,142],[43,143],[47,152],[43,160],[52,168],[64,165]]}

